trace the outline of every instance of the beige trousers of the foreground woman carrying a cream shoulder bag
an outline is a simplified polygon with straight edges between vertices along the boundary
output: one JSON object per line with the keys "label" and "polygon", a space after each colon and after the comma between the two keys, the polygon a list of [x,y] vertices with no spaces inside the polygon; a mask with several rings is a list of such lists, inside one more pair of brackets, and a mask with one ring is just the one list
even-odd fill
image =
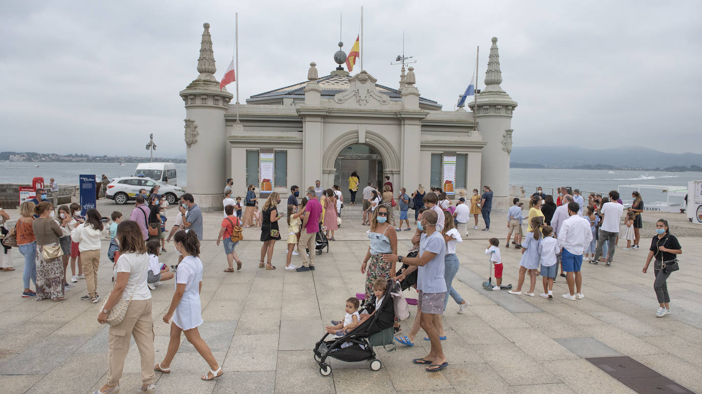
{"label": "beige trousers of the foreground woman carrying a cream shoulder bag", "polygon": [[[82,257],[82,254],[81,254]],[[110,327],[110,350],[107,352],[107,386],[117,386],[122,377],[129,342],[134,337],[141,359],[141,382],[154,383],[154,323],[151,300],[132,300],[124,320]]]}

